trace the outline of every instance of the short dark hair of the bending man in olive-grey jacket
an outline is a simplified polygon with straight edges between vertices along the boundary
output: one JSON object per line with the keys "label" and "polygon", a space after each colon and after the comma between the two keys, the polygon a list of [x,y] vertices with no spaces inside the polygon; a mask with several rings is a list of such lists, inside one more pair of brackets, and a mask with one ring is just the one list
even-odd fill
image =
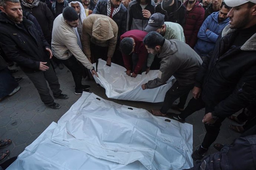
{"label": "short dark hair of the bending man in olive-grey jacket", "polygon": [[143,39],[144,45],[154,49],[157,45],[163,46],[164,37],[156,31],[150,31]]}

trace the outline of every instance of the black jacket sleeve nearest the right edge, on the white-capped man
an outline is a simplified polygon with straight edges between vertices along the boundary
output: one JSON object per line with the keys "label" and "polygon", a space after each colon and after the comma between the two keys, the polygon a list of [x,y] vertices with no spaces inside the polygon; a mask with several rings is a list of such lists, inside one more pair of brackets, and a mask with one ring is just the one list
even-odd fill
{"label": "black jacket sleeve nearest the right edge, on the white-capped man", "polygon": [[256,66],[248,69],[240,78],[233,93],[215,106],[212,114],[226,118],[240,109],[245,108],[250,102],[256,101]]}

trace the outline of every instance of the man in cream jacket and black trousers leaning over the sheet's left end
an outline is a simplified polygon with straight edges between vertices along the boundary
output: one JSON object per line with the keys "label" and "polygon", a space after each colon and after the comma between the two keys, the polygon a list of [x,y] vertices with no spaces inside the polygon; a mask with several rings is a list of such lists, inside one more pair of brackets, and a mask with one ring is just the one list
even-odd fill
{"label": "man in cream jacket and black trousers leaning over the sheet's left end", "polygon": [[75,81],[75,94],[89,92],[89,85],[82,85],[82,69],[79,62],[84,67],[91,70],[92,75],[97,75],[91,62],[82,51],[81,41],[76,27],[78,26],[78,14],[72,7],[66,7],[53,22],[52,30],[52,52],[62,60],[62,63],[72,72]]}

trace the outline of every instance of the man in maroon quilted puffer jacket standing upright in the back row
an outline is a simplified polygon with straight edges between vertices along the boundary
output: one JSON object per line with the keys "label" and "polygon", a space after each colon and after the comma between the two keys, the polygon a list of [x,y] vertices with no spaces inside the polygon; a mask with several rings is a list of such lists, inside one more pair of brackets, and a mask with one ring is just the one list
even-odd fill
{"label": "man in maroon quilted puffer jacket standing upright in the back row", "polygon": [[194,48],[197,42],[197,33],[204,21],[204,8],[198,0],[187,0],[184,2],[187,9],[184,36],[186,44]]}

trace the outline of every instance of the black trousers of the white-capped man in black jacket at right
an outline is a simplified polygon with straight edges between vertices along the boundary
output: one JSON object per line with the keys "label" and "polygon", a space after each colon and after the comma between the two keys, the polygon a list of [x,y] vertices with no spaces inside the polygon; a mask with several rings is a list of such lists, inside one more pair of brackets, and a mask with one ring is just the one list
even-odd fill
{"label": "black trousers of the white-capped man in black jacket at right", "polygon": [[[205,114],[212,112],[214,110],[214,106],[204,103],[201,97],[198,99],[192,98],[188,102],[188,105],[185,108],[185,110],[181,112],[179,116],[180,118],[185,119],[192,113],[203,108],[205,108]],[[201,144],[202,147],[207,149],[216,140],[220,132],[221,123],[223,122],[224,119],[225,118],[219,118],[213,125],[204,124],[204,127],[206,129],[206,135],[204,136],[203,143]]]}

